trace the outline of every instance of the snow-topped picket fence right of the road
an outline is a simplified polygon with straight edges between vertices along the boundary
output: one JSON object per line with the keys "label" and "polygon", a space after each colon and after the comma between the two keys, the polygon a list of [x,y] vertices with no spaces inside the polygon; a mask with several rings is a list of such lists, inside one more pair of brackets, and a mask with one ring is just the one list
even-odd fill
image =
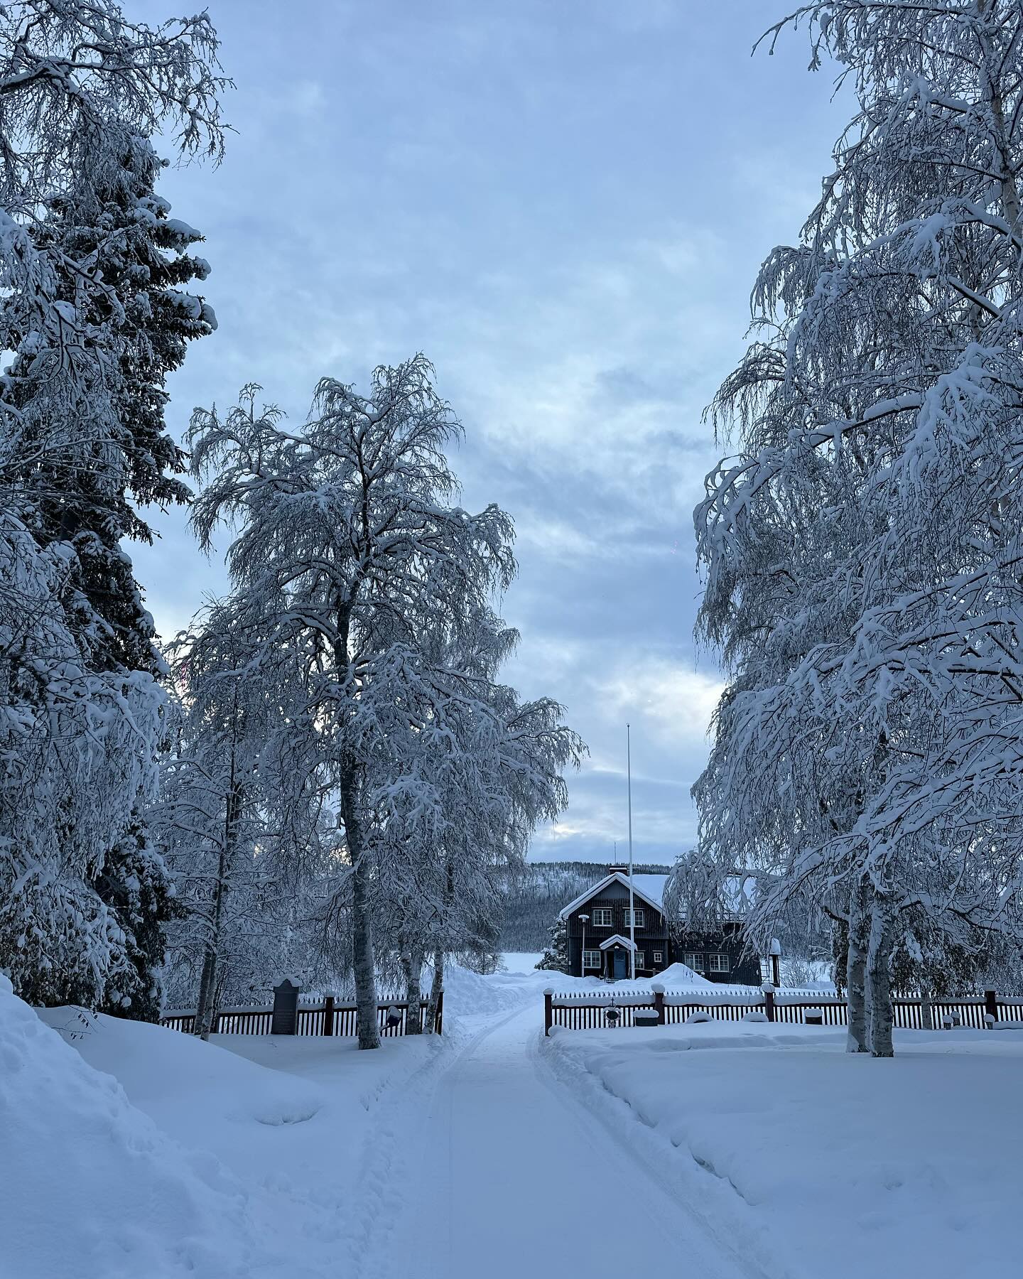
{"label": "snow-topped picket fence right of the road", "polygon": [[[919,996],[893,999],[895,1024],[902,1030],[923,1028],[923,1000]],[[552,1026],[566,1030],[636,1026],[637,1012],[657,1014],[657,1024],[671,1026],[687,1021],[693,1013],[706,1013],[715,1021],[740,1022],[748,1013],[763,1013],[769,1022],[807,1024],[812,1013],[815,1024],[848,1024],[848,1003],[840,995],[824,995],[806,990],[711,991],[586,991],[581,994],[543,991],[543,1033]],[[985,1030],[997,1022],[1015,1021],[1023,1012],[1023,996],[997,995],[986,990],[980,995],[953,995],[931,1000],[932,1024],[971,1026]],[[609,1016],[610,1014],[610,1016]]]}

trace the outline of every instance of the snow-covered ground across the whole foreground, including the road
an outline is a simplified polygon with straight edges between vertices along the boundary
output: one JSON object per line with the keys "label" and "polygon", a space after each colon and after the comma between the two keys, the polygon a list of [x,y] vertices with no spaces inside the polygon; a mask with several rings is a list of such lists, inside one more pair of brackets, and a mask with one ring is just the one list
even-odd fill
{"label": "snow-covered ground across the whole foreground, including the road", "polygon": [[38,1017],[0,982],[0,1275],[1015,1273],[1023,1032],[894,1062],[762,1023],[545,1040],[551,976],[454,968],[442,1039],[377,1053]]}

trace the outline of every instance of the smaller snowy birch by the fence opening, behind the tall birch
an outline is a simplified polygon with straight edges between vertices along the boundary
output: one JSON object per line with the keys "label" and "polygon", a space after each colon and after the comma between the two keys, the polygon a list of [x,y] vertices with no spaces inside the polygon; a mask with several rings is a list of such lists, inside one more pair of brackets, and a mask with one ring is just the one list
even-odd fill
{"label": "smaller snowy birch by the fence opening, behind the tall birch", "polygon": [[[421,637],[441,700],[433,715],[448,742],[421,735],[414,790],[404,780],[407,766],[398,787],[381,778],[373,788],[380,801],[372,822],[379,934],[398,948],[409,999],[418,991],[423,958],[431,958],[428,1027],[446,957],[492,948],[501,885],[509,871],[522,870],[537,824],[564,808],[564,770],[577,766],[586,749],[555,701],[522,702],[497,682],[518,642],[514,629],[485,610],[467,636],[468,650],[464,637]],[[431,801],[426,821],[423,794]]]}

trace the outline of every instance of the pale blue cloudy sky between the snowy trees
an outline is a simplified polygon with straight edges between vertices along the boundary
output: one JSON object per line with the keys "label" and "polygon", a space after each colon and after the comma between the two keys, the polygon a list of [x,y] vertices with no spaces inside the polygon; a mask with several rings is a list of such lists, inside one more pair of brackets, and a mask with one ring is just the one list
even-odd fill
{"label": "pale blue cloudy sky between the snowy trees", "polygon": [[[784,0],[781,0],[784,3]],[[164,15],[146,0],[139,8]],[[533,857],[689,848],[720,691],[693,642],[701,412],[743,344],[761,260],[792,243],[847,102],[760,0],[210,0],[237,82],[216,169],[170,170],[206,235],[220,327],[171,379],[193,405],[258,381],[304,417],[324,375],[423,350],[465,427],[463,504],[518,528],[508,677],[590,746]],[[720,451],[726,451],[722,449]],[[185,519],[137,573],[160,632],[226,578]]]}

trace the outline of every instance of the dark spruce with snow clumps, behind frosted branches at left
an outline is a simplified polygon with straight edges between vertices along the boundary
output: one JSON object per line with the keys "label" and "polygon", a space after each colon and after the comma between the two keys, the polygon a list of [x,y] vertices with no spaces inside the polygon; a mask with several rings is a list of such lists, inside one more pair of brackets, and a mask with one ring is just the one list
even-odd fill
{"label": "dark spruce with snow clumps, behind frosted branches at left", "polygon": [[[148,141],[127,137],[118,165],[111,166],[110,187],[97,189],[95,182],[68,196],[55,197],[47,220],[33,231],[37,248],[56,262],[58,290],[69,303],[84,310],[88,321],[106,347],[116,367],[105,373],[110,389],[111,475],[102,468],[75,469],[69,483],[66,457],[52,459],[55,475],[36,475],[42,494],[36,508],[36,536],[69,542],[75,558],[70,565],[69,592],[79,601],[79,618],[90,643],[90,665],[107,670],[143,670],[159,678],[161,663],[153,648],[153,627],[142,602],[142,592],[123,550],[123,540],[152,540],[138,505],[183,503],[188,490],[176,478],[184,459],[164,421],[165,379],[185,354],[189,339],[203,336],[215,327],[212,311],[202,301],[182,292],[179,285],[202,279],[208,271],[202,258],[188,248],[201,235],[185,224],[169,219],[169,206],[153,192],[160,161]],[[88,260],[104,281],[86,306],[77,276],[77,263]],[[15,362],[13,372],[17,375]],[[29,381],[28,394],[36,394]],[[73,409],[73,416],[77,409]],[[47,491],[47,489],[50,491]],[[50,494],[56,491],[59,496]],[[159,944],[162,923],[169,918],[169,884],[162,862],[151,854],[143,829],[144,816],[137,811],[137,835],[116,839],[102,858],[96,880],[100,895],[115,912],[125,936],[150,938],[146,949],[153,963],[139,973],[139,991],[152,998],[155,972],[162,963]],[[137,898],[133,885],[152,885],[152,891]],[[132,913],[124,912],[132,902]],[[113,1000],[111,1007],[119,1007]],[[130,1007],[138,1016],[139,1005]]]}

